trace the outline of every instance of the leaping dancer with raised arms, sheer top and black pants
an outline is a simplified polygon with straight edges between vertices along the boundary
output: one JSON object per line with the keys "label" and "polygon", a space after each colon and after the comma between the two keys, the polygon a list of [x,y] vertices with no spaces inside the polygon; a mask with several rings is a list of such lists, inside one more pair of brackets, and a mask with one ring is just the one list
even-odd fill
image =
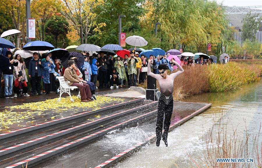
{"label": "leaping dancer with raised arms, sheer top and black pants", "polygon": [[153,57],[151,56],[148,60],[147,66],[147,74],[156,78],[158,80],[160,86],[160,99],[158,101],[157,106],[157,123],[156,123],[156,146],[160,145],[161,134],[162,134],[162,126],[163,126],[163,117],[165,114],[165,121],[164,121],[164,133],[162,135],[162,140],[164,141],[165,145],[167,146],[167,134],[170,126],[170,119],[173,112],[173,86],[174,86],[174,79],[181,73],[184,72],[183,68],[174,60],[171,61],[176,65],[179,69],[178,72],[172,73],[167,75],[167,64],[160,64],[158,65],[158,72],[159,74],[153,74],[151,72],[151,62]]}

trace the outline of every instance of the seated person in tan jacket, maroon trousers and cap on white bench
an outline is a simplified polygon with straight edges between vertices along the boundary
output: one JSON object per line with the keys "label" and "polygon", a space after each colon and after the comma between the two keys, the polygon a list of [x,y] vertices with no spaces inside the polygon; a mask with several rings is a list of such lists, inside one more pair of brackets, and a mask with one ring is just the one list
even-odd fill
{"label": "seated person in tan jacket, maroon trousers and cap on white bench", "polygon": [[93,101],[90,99],[92,95],[89,89],[89,85],[86,84],[86,81],[80,79],[73,69],[74,67],[76,68],[75,62],[73,60],[68,60],[67,63],[69,67],[65,69],[64,77],[66,78],[66,81],[70,81],[68,85],[79,87],[82,102]]}

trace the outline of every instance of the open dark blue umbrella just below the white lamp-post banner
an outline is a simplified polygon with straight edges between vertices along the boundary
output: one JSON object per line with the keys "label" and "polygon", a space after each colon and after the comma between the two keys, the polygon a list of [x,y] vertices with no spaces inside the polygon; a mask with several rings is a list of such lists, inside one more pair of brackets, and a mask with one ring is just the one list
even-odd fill
{"label": "open dark blue umbrella just below the white lamp-post banner", "polygon": [[54,49],[54,46],[49,42],[45,42],[45,41],[33,41],[33,42],[26,43],[23,49],[30,50],[30,51],[45,51],[45,50]]}

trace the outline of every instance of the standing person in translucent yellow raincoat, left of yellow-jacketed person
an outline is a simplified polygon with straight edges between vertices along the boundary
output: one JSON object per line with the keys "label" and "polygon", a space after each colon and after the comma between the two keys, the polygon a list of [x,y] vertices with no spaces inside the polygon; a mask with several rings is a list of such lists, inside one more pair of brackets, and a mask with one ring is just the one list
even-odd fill
{"label": "standing person in translucent yellow raincoat, left of yellow-jacketed person", "polygon": [[130,58],[128,58],[128,75],[130,81],[130,87],[132,86],[132,77],[134,81],[134,86],[137,85],[137,58],[134,57],[134,52],[130,52]]}

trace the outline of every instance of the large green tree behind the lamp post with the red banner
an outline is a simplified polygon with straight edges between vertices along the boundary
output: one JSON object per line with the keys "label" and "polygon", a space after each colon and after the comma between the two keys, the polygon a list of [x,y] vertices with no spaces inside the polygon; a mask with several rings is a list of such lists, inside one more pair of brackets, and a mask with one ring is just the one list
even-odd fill
{"label": "large green tree behind the lamp post with the red banner", "polygon": [[145,0],[109,0],[96,12],[100,13],[98,22],[105,23],[101,28],[102,33],[93,32],[89,36],[89,41],[103,46],[105,44],[118,44],[118,16],[125,15],[122,18],[122,32],[138,31],[139,17],[144,15],[145,9],[142,8]]}

